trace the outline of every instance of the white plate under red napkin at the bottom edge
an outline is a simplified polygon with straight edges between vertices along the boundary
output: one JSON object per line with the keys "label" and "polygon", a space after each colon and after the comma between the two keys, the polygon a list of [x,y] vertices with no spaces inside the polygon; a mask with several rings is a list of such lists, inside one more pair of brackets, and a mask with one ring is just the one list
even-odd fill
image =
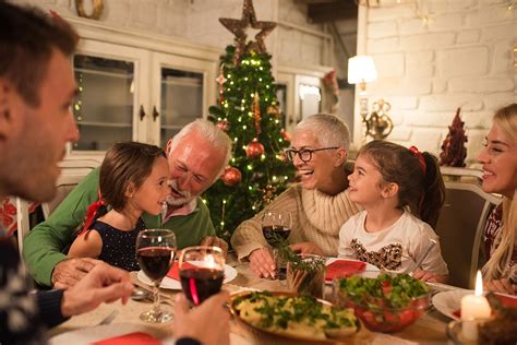
{"label": "white plate under red napkin at the bottom edge", "polygon": [[164,345],[175,344],[173,340],[165,336],[164,332],[145,324],[111,323],[58,334],[49,340],[49,345],[86,345],[134,332],[153,335],[160,340]]}

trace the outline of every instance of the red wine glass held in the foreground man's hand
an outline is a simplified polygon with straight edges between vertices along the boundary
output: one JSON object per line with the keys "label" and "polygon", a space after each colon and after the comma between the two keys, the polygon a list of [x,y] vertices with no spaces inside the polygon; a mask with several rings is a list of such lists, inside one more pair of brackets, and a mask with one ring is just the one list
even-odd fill
{"label": "red wine glass held in the foreground man's hand", "polygon": [[196,307],[220,292],[225,278],[225,252],[219,247],[188,247],[181,251],[178,267],[181,288]]}

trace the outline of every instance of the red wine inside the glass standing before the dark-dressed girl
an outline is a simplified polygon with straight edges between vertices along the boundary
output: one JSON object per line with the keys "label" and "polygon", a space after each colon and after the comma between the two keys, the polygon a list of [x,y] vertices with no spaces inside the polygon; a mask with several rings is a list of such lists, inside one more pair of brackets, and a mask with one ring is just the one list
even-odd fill
{"label": "red wine inside the glass standing before the dark-dressed girl", "polygon": [[139,249],[136,259],[140,267],[152,281],[160,281],[175,260],[175,250],[168,247],[147,247]]}

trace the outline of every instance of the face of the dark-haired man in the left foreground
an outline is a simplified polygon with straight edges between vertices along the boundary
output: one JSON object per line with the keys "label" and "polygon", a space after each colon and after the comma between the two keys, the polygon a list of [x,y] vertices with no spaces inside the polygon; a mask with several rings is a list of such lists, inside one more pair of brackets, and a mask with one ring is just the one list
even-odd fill
{"label": "face of the dark-haired man in the left foreground", "polygon": [[53,198],[64,145],[79,140],[71,112],[75,91],[70,60],[53,49],[37,107],[26,104],[13,88],[7,93],[7,114],[15,121],[10,124],[8,148],[2,153],[5,194],[35,201]]}

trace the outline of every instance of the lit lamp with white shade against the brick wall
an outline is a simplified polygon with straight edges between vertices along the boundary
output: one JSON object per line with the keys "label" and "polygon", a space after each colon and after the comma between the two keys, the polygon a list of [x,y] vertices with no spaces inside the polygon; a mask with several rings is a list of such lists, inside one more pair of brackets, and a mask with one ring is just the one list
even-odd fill
{"label": "lit lamp with white shade against the brick wall", "polygon": [[348,83],[359,84],[359,114],[362,121],[366,121],[368,97],[366,83],[377,79],[377,70],[370,56],[356,56],[348,59]]}

